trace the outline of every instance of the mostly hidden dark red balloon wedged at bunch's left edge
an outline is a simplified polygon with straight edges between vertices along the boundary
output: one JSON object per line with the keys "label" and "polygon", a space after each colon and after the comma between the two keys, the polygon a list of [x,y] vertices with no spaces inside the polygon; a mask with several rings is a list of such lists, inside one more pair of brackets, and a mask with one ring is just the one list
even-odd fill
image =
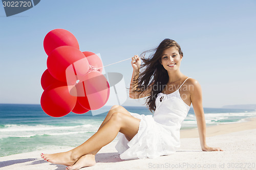
{"label": "mostly hidden dark red balloon wedged at bunch's left edge", "polygon": [[48,69],[46,69],[41,77],[41,86],[42,86],[42,89],[45,90],[50,85],[55,85],[55,87],[59,87],[59,86],[67,86],[67,83],[54,79],[54,77],[52,77]]}

